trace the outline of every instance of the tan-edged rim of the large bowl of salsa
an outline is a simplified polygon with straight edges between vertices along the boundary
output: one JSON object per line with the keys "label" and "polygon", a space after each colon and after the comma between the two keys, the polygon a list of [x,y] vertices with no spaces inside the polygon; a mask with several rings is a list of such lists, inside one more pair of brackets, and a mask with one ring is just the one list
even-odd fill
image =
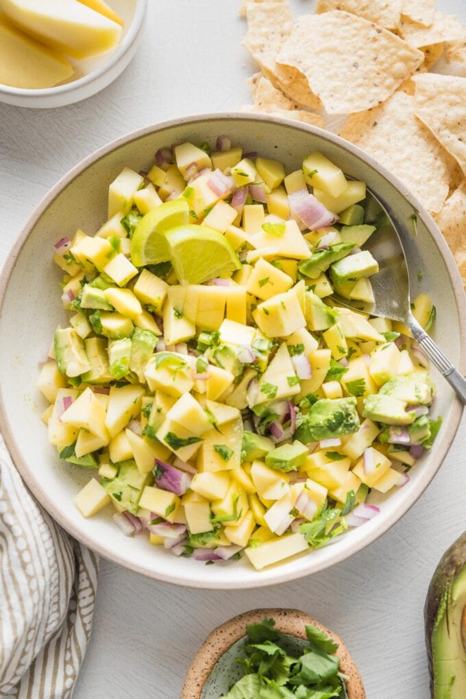
{"label": "tan-edged rim of the large bowl of salsa", "polygon": [[[308,134],[313,134],[319,136],[320,138],[326,139],[337,146],[343,147],[345,150],[349,151],[354,156],[358,157],[365,162],[365,164],[371,166],[376,170],[391,186],[395,187],[402,196],[412,204],[415,210],[418,212],[418,216],[428,229],[430,235],[435,240],[435,244],[439,249],[442,258],[446,264],[446,268],[449,272],[451,279],[451,284],[453,288],[453,294],[456,301],[456,309],[458,312],[458,317],[460,320],[458,326],[458,332],[460,334],[460,362],[458,370],[462,374],[466,371],[466,303],[463,291],[463,283],[460,278],[460,273],[456,266],[456,262],[453,258],[453,254],[446,243],[440,229],[437,224],[435,224],[434,219],[430,217],[427,210],[424,208],[423,204],[416,199],[414,194],[412,194],[408,187],[406,187],[395,175],[392,175],[384,166],[381,166],[374,158],[366,154],[359,147],[349,143],[348,141],[336,136],[335,134],[326,131],[325,129],[320,129],[319,127],[314,127],[311,124],[303,124],[303,122],[297,122],[296,120],[289,119],[287,117],[268,115],[262,113],[248,113],[248,112],[210,112],[210,113],[200,113],[195,115],[187,115],[183,117],[178,117],[175,119],[166,120],[163,122],[156,122],[155,124],[150,124],[146,127],[136,129],[131,131],[124,136],[120,136],[115,140],[110,141],[106,145],[103,145],[92,154],[87,155],[82,159],[77,165],[71,168],[68,173],[59,179],[59,181],[50,189],[48,194],[45,194],[43,199],[38,203],[36,208],[34,208],[31,215],[29,215],[24,228],[20,233],[17,242],[15,243],[12,250],[10,250],[3,268],[0,271],[0,316],[3,308],[3,302],[6,296],[6,289],[8,287],[8,282],[10,276],[13,272],[15,266],[15,261],[19,256],[22,247],[26,243],[29,234],[32,229],[45,213],[50,204],[57,198],[62,189],[64,189],[68,184],[70,184],[80,173],[84,172],[89,166],[96,163],[107,154],[116,150],[118,147],[127,145],[133,140],[138,140],[138,138],[143,138],[150,134],[154,134],[158,131],[164,131],[172,127],[180,127],[184,124],[196,124],[198,122],[221,122],[228,120],[245,120],[245,121],[255,121],[255,122],[271,122],[273,124],[282,125],[288,128],[296,129],[297,131],[304,131]],[[13,433],[10,430],[10,425],[7,417],[6,405],[3,401],[3,391],[0,386],[0,425],[1,432],[3,434],[6,447],[10,453],[11,458],[15,467],[19,471],[21,477],[27,486],[31,489],[34,497],[45,507],[45,510],[58,522],[58,524],[64,528],[71,536],[73,536],[78,541],[82,542],[89,549],[94,550],[99,555],[103,556],[104,559],[112,561],[122,565],[123,568],[132,570],[133,572],[138,572],[140,575],[145,575],[151,579],[156,579],[161,582],[169,582],[171,584],[177,584],[181,586],[188,586],[201,589],[253,589],[255,587],[263,587],[271,584],[278,584],[282,582],[289,582],[291,580],[299,579],[301,577],[306,577],[314,572],[319,572],[320,570],[325,570],[330,568],[337,563],[342,563],[350,556],[362,551],[367,546],[372,544],[381,535],[386,533],[394,524],[396,524],[402,517],[408,512],[408,510],[416,503],[418,498],[421,497],[425,489],[428,487],[430,482],[433,480],[435,475],[442,466],[442,462],[451,447],[451,443],[455,438],[456,432],[460,425],[460,419],[463,415],[463,405],[457,396],[453,396],[453,406],[449,424],[446,425],[446,429],[442,434],[442,438],[438,442],[437,447],[437,460],[438,466],[435,468],[432,476],[428,480],[421,481],[417,484],[416,491],[413,491],[411,499],[407,498],[400,507],[395,511],[391,512],[386,519],[384,519],[381,524],[374,526],[372,531],[369,531],[369,535],[365,537],[363,542],[355,540],[353,542],[348,542],[348,545],[338,551],[333,559],[330,561],[318,561],[317,563],[312,561],[312,556],[307,556],[308,563],[304,565],[299,570],[289,570],[287,572],[281,571],[281,566],[277,565],[273,570],[270,571],[270,575],[261,577],[262,571],[252,571],[256,575],[254,579],[247,582],[240,582],[239,584],[232,579],[225,579],[220,581],[208,582],[203,579],[203,576],[198,575],[194,577],[191,575],[189,579],[184,579],[181,577],[173,577],[170,574],[160,573],[154,568],[148,568],[146,565],[141,565],[133,561],[127,561],[124,556],[120,555],[118,551],[109,551],[106,549],[105,545],[102,545],[98,538],[92,538],[91,536],[82,533],[78,526],[75,526],[73,522],[69,521],[66,515],[62,515],[54,503],[53,498],[49,496],[48,491],[41,486],[41,481],[34,479],[29,466],[26,461],[22,459],[20,448],[17,446],[15,439],[13,438]],[[38,493],[38,495],[36,494]]]}

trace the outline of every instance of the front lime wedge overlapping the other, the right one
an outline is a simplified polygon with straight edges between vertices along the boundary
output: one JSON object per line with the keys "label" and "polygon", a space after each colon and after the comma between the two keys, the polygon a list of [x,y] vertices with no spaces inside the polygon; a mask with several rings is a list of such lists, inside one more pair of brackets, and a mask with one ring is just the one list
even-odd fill
{"label": "front lime wedge overlapping the other, the right one", "polygon": [[228,240],[207,226],[185,225],[165,234],[170,259],[181,283],[201,284],[241,268]]}

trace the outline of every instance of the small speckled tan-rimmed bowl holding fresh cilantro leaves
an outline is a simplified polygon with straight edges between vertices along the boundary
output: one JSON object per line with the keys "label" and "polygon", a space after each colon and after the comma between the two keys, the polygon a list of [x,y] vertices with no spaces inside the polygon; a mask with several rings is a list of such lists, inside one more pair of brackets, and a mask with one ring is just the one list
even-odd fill
{"label": "small speckled tan-rimmed bowl holding fresh cilantro leaves", "polygon": [[229,687],[245,674],[235,658],[244,656],[246,626],[265,618],[275,619],[275,628],[286,634],[287,650],[296,656],[307,645],[307,624],[314,624],[330,636],[338,644],[336,655],[340,658],[340,670],[349,677],[346,683],[348,699],[365,699],[361,675],[340,636],[304,612],[284,609],[252,610],[217,626],[189,665],[180,699],[219,699],[228,694]]}

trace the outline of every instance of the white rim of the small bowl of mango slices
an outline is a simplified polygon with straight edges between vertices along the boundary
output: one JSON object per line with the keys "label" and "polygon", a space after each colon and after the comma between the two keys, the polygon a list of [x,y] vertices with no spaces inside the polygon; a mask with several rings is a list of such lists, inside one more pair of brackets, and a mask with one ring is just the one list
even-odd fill
{"label": "white rim of the small bowl of mango slices", "polygon": [[64,85],[54,85],[54,87],[41,87],[40,89],[34,89],[31,87],[13,87],[10,85],[4,85],[0,83],[0,98],[1,95],[15,96],[18,98],[27,97],[31,99],[41,99],[52,97],[56,95],[68,94],[68,92],[74,92],[77,89],[85,87],[86,85],[92,85],[93,82],[99,80],[102,75],[111,71],[114,66],[116,66],[119,61],[126,55],[131,47],[138,39],[140,31],[143,29],[143,22],[145,14],[147,11],[147,0],[136,0],[136,10],[133,15],[133,20],[131,21],[128,33],[124,36],[122,41],[119,43],[117,48],[113,51],[108,52],[108,60],[104,61],[98,68],[87,75],[82,75],[82,78],[78,80],[71,80],[71,82],[66,82]]}

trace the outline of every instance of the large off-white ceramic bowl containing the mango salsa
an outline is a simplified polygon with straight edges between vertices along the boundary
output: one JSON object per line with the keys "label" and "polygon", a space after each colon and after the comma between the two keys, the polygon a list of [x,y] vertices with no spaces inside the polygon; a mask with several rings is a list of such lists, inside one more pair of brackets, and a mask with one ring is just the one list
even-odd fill
{"label": "large off-white ceramic bowl containing the mango salsa", "polygon": [[[400,182],[346,141],[326,131],[279,117],[245,113],[200,115],[166,122],[124,136],[86,158],[45,197],[27,222],[0,278],[0,425],[17,468],[36,498],[75,538],[106,558],[149,577],[186,586],[249,588],[285,582],[343,561],[395,524],[413,505],[437,472],[458,428],[461,406],[449,385],[435,375],[435,413],[444,424],[434,447],[412,470],[411,480],[381,501],[381,514],[347,532],[332,545],[302,554],[262,571],[246,562],[209,565],[176,558],[139,536],[126,538],[112,523],[110,507],[84,519],[73,500],[89,472],[60,461],[39,419],[45,403],[36,389],[39,365],[48,354],[52,333],[65,322],[60,279],[52,263],[52,245],[80,227],[94,233],[105,219],[108,185],[127,165],[147,170],[163,145],[191,140],[214,143],[228,135],[245,151],[284,161],[288,171],[300,167],[311,150],[323,151],[345,173],[362,179],[388,208],[405,220],[418,210],[417,236],[409,243],[412,291],[428,290],[441,309],[435,338],[463,371],[465,299],[458,271],[441,233],[427,212]],[[423,271],[418,280],[416,271]]]}

